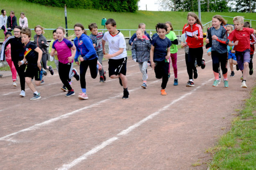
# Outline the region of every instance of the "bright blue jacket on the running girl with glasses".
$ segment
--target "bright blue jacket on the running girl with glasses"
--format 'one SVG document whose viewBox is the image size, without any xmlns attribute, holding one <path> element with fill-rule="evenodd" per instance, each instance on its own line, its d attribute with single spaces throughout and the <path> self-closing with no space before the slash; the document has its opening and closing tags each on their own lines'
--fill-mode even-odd
<svg viewBox="0 0 256 170">
<path fill-rule="evenodd" d="M 98 58 L 93 47 L 93 41 L 88 35 L 82 34 L 79 39 L 76 37 L 74 44 L 77 48 L 77 52 L 75 53 L 75 62 L 78 62 L 79 55 L 81 55 L 84 60 L 93 60 Z"/>
</svg>

